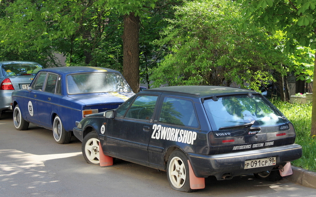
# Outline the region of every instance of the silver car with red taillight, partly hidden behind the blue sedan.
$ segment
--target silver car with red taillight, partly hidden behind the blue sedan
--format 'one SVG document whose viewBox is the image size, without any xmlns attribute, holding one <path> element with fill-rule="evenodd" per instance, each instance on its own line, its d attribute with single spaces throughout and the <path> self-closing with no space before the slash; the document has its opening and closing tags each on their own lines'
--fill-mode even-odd
<svg viewBox="0 0 316 197">
<path fill-rule="evenodd" d="M 0 61 L 0 119 L 11 106 L 11 94 L 27 89 L 34 75 L 43 67 L 32 61 Z"/>
</svg>

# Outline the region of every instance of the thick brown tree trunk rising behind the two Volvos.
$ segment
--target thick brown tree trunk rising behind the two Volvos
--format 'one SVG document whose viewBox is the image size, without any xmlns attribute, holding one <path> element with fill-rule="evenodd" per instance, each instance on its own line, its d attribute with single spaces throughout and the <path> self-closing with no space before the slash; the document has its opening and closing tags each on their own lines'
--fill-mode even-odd
<svg viewBox="0 0 316 197">
<path fill-rule="evenodd" d="M 139 16 L 124 16 L 123 75 L 133 92 L 139 92 Z"/>
</svg>

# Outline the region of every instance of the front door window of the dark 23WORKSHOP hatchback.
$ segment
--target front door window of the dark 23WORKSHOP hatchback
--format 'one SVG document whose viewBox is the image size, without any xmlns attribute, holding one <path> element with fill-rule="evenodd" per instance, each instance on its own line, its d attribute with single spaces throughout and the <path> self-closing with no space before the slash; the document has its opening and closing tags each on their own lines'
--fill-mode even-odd
<svg viewBox="0 0 316 197">
<path fill-rule="evenodd" d="M 157 98 L 158 96 L 137 96 L 127 111 L 125 118 L 149 120 L 153 116 Z"/>
</svg>

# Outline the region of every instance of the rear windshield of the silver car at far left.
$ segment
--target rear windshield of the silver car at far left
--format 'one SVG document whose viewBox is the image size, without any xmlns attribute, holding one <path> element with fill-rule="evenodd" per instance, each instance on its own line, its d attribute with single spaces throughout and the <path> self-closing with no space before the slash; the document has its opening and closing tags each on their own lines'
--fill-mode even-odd
<svg viewBox="0 0 316 197">
<path fill-rule="evenodd" d="M 3 76 L 21 76 L 21 75 L 35 75 L 42 67 L 39 64 L 8 64 L 2 65 Z"/>
</svg>

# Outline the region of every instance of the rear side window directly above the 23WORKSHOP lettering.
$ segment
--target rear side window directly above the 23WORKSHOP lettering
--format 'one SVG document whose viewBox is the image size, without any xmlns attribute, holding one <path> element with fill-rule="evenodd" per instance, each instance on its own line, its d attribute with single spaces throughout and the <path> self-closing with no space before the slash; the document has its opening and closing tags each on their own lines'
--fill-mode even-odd
<svg viewBox="0 0 316 197">
<path fill-rule="evenodd" d="M 165 97 L 161 106 L 159 122 L 197 127 L 197 116 L 192 101 Z"/>
</svg>

